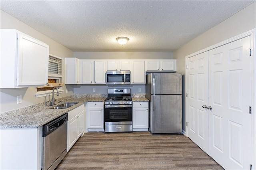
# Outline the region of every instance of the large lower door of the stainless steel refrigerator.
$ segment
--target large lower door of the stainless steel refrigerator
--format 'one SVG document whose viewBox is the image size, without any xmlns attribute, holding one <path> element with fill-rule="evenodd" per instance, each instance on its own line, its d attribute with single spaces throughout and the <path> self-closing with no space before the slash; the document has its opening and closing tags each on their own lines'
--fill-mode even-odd
<svg viewBox="0 0 256 170">
<path fill-rule="evenodd" d="M 182 95 L 151 95 L 150 132 L 182 132 Z"/>
</svg>

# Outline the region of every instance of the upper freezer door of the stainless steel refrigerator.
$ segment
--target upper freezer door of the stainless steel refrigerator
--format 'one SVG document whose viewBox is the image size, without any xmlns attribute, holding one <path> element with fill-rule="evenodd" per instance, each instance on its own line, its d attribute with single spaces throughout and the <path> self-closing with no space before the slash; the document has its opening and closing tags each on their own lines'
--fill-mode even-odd
<svg viewBox="0 0 256 170">
<path fill-rule="evenodd" d="M 150 78 L 152 95 L 182 94 L 181 73 L 152 73 Z"/>
</svg>

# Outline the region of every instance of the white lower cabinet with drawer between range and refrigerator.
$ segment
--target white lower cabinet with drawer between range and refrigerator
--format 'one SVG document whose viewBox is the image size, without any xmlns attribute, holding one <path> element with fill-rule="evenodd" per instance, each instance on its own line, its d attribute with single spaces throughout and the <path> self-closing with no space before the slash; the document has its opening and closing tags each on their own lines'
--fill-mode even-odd
<svg viewBox="0 0 256 170">
<path fill-rule="evenodd" d="M 148 102 L 132 103 L 132 131 L 148 131 Z"/>
</svg>

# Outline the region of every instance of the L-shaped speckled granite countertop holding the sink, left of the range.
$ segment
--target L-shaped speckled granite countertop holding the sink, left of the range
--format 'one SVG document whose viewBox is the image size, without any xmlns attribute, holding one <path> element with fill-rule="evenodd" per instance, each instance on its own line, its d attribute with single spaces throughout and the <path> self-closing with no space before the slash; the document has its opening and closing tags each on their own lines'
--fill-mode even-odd
<svg viewBox="0 0 256 170">
<path fill-rule="evenodd" d="M 49 109 L 56 105 L 51 107 L 28 109 L 27 111 L 25 111 L 25 113 L 7 119 L 2 119 L 0 121 L 0 128 L 38 128 L 52 121 L 53 119 L 56 119 L 57 117 L 68 113 L 76 107 L 84 105 L 85 102 L 103 102 L 105 99 L 106 97 L 72 97 L 63 102 L 56 102 L 56 105 L 65 102 L 78 102 L 78 104 L 71 106 L 67 109 Z M 12 112 L 12 114 L 15 114 L 15 111 Z"/>
</svg>

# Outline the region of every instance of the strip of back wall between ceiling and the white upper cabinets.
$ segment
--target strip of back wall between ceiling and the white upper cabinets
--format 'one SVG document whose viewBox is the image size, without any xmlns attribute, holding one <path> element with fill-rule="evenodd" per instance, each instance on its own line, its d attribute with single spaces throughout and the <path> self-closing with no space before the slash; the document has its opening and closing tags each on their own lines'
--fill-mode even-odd
<svg viewBox="0 0 256 170">
<path fill-rule="evenodd" d="M 172 52 L 74 52 L 79 59 L 172 59 Z"/>
</svg>

